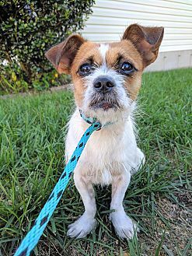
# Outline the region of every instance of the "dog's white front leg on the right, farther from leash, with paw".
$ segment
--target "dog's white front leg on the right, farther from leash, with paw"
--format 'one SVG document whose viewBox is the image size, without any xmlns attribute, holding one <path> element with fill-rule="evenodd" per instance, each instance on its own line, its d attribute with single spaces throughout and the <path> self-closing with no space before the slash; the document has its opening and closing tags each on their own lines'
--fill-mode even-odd
<svg viewBox="0 0 192 256">
<path fill-rule="evenodd" d="M 130 172 L 113 177 L 112 181 L 112 197 L 110 209 L 114 212 L 110 213 L 110 220 L 113 223 L 117 235 L 121 238 L 131 238 L 134 236 L 136 226 L 132 220 L 124 212 L 123 200 L 124 194 L 130 183 Z"/>
</svg>

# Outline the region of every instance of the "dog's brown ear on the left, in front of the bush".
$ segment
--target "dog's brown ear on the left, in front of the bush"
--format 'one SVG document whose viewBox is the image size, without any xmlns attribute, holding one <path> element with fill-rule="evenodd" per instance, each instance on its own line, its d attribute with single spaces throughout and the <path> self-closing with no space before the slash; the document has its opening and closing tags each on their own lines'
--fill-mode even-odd
<svg viewBox="0 0 192 256">
<path fill-rule="evenodd" d="M 45 57 L 51 61 L 54 68 L 59 73 L 69 74 L 72 66 L 72 61 L 79 50 L 79 47 L 85 42 L 85 40 L 78 34 L 68 37 L 61 44 L 57 44 L 51 47 L 46 52 Z"/>
</svg>

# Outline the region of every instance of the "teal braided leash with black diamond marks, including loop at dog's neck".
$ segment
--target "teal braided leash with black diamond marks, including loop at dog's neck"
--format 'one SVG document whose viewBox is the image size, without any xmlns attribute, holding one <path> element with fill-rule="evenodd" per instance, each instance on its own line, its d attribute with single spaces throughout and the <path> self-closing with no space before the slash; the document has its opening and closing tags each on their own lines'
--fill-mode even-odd
<svg viewBox="0 0 192 256">
<path fill-rule="evenodd" d="M 80 114 L 81 116 L 83 115 L 81 112 Z M 44 208 L 40 211 L 40 214 L 37 217 L 32 229 L 29 231 L 29 233 L 26 234 L 26 237 L 23 239 L 14 256 L 29 256 L 30 252 L 33 251 L 33 248 L 37 245 L 38 241 L 40 240 L 40 237 L 44 232 L 47 223 L 51 219 L 54 209 L 57 207 L 58 202 L 60 201 L 61 196 L 65 191 L 68 181 L 72 176 L 72 172 L 75 170 L 79 157 L 81 156 L 82 151 L 86 146 L 86 142 L 88 141 L 90 135 L 92 135 L 94 131 L 97 131 L 100 128 L 102 128 L 102 125 L 96 121 L 96 118 L 85 117 L 84 115 L 82 118 L 91 125 L 89 126 L 89 128 L 87 128 L 84 135 L 82 135 L 82 138 L 78 143 L 78 146 L 72 154 L 71 159 L 68 161 L 65 170 L 61 174 L 58 183 L 55 185 L 53 191 L 51 192 L 51 195 L 48 198 L 46 204 L 44 205 Z"/>
</svg>

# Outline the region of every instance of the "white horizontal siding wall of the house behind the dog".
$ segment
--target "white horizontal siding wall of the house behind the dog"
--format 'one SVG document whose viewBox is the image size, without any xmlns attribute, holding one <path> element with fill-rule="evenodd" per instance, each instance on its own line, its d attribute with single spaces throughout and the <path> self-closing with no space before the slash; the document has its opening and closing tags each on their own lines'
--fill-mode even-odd
<svg viewBox="0 0 192 256">
<path fill-rule="evenodd" d="M 189 63 L 184 66 L 192 65 L 192 0 L 96 0 L 93 15 L 86 22 L 82 35 L 96 42 L 117 41 L 131 23 L 164 26 L 165 36 L 160 47 L 162 58 L 169 57 L 171 51 L 181 51 L 182 54 L 188 50 Z M 169 68 L 172 66 L 180 67 L 170 65 Z"/>
</svg>

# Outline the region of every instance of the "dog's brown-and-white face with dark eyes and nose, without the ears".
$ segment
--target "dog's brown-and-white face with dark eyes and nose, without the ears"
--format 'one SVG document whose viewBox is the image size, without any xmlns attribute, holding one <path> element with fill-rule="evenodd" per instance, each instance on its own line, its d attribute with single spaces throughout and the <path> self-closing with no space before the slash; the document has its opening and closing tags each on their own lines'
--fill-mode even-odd
<svg viewBox="0 0 192 256">
<path fill-rule="evenodd" d="M 128 40 L 85 42 L 72 64 L 75 100 L 83 111 L 126 110 L 141 85 L 142 61 Z"/>
</svg>

